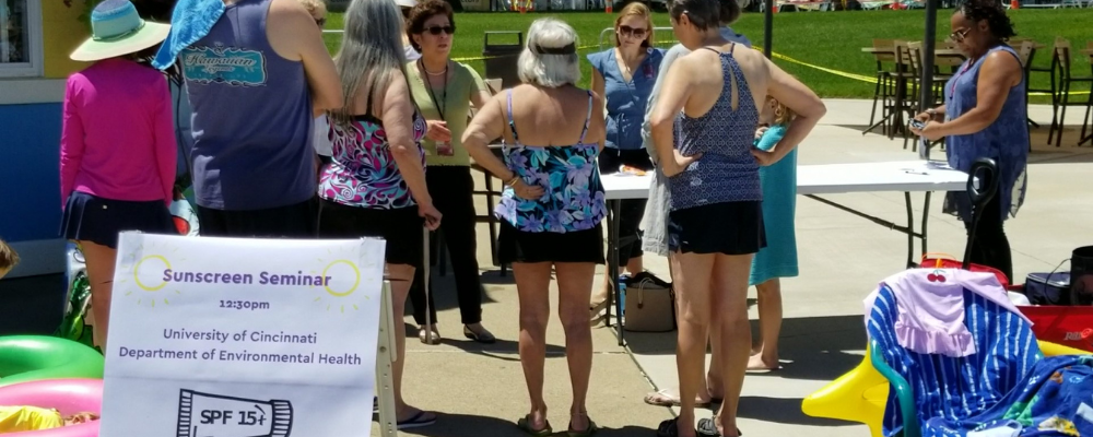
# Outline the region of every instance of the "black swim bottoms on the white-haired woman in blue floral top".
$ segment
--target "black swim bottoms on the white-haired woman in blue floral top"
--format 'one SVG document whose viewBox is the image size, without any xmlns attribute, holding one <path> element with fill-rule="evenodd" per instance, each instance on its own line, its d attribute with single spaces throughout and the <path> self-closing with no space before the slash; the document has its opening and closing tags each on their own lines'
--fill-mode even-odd
<svg viewBox="0 0 1093 437">
<path fill-rule="evenodd" d="M 501 221 L 497 236 L 497 258 L 501 262 L 591 262 L 603 263 L 603 227 L 565 234 L 529 233 Z"/>
</svg>

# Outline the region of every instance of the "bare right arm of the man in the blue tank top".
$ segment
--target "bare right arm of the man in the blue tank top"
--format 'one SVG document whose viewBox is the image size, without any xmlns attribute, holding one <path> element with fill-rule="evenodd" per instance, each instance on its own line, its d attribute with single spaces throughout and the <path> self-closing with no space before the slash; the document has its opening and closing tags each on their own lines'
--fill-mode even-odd
<svg viewBox="0 0 1093 437">
<path fill-rule="evenodd" d="M 286 59 L 299 59 L 312 90 L 314 116 L 339 109 L 345 104 L 334 61 L 322 42 L 322 29 L 295 0 L 270 5 L 268 37 L 273 49 Z"/>
</svg>

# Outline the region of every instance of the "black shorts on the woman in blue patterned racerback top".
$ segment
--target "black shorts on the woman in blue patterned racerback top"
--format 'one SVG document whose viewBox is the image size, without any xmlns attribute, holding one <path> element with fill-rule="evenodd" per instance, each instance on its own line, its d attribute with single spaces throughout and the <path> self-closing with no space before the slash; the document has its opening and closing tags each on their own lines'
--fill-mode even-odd
<svg viewBox="0 0 1093 437">
<path fill-rule="evenodd" d="M 763 203 L 721 202 L 668 213 L 668 249 L 683 253 L 755 253 L 766 247 Z"/>
</svg>

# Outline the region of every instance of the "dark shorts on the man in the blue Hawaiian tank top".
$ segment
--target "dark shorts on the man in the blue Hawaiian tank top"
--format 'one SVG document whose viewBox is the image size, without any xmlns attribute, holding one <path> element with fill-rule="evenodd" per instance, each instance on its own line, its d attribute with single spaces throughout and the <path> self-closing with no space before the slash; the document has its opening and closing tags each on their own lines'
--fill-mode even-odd
<svg viewBox="0 0 1093 437">
<path fill-rule="evenodd" d="M 265 210 L 225 211 L 198 205 L 200 234 L 207 237 L 315 238 L 318 198 Z"/>
</svg>

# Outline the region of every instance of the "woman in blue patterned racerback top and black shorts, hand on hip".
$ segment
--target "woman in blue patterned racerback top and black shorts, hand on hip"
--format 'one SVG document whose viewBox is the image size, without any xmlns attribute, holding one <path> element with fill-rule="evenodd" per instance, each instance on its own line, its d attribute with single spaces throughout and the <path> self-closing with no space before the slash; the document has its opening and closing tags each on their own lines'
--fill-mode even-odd
<svg viewBox="0 0 1093 437">
<path fill-rule="evenodd" d="M 668 71 L 650 126 L 668 176 L 668 247 L 678 296 L 675 364 L 680 415 L 658 436 L 740 436 L 737 409 L 751 352 L 748 280 L 752 257 L 766 246 L 760 166 L 786 156 L 826 113 L 808 86 L 762 52 L 726 40 L 716 0 L 673 0 L 672 31 L 690 54 Z M 772 150 L 752 146 L 766 96 L 798 114 Z M 706 330 L 721 346 L 725 400 L 695 427 Z"/>
</svg>

